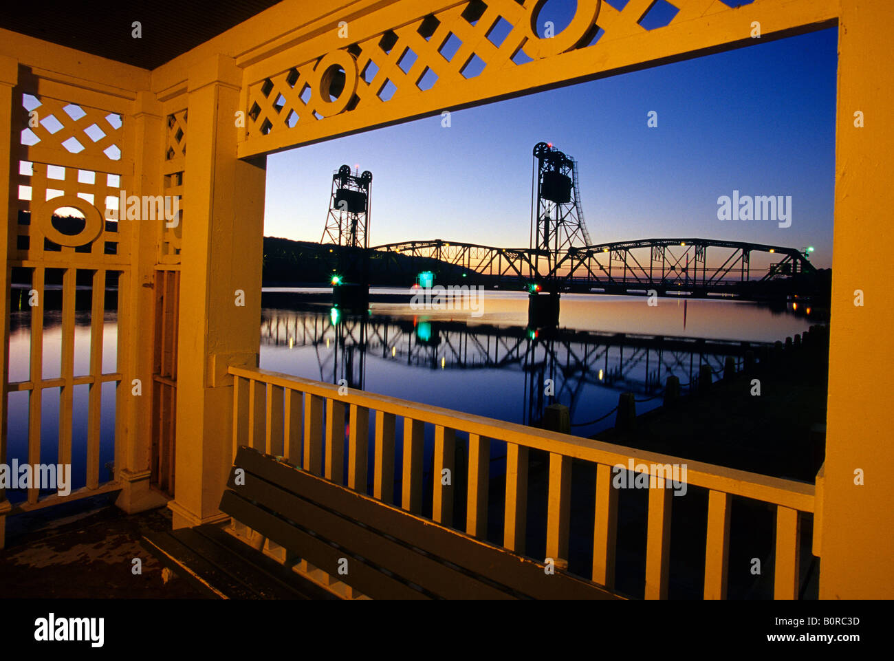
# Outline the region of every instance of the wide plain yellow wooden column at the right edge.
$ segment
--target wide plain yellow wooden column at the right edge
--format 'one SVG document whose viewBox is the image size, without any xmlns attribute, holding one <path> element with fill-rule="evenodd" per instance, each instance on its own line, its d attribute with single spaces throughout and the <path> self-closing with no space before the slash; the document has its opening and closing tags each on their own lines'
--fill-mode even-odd
<svg viewBox="0 0 894 661">
<path fill-rule="evenodd" d="M 820 597 L 894 597 L 887 0 L 841 0 L 829 414 Z M 862 482 L 862 484 L 860 484 Z"/>
</svg>

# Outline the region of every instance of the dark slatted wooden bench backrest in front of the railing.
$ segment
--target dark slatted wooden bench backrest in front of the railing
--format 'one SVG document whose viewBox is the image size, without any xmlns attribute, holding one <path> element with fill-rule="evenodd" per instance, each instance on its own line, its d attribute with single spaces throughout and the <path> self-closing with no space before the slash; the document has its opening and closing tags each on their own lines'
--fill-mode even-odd
<svg viewBox="0 0 894 661">
<path fill-rule="evenodd" d="M 367 597 L 621 598 L 244 446 L 220 509 Z"/>
</svg>

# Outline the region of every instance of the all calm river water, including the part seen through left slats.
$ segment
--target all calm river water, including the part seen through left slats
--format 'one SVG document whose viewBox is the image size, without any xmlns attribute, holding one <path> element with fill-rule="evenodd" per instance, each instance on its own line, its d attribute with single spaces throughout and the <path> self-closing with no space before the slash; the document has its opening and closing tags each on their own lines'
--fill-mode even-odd
<svg viewBox="0 0 894 661">
<path fill-rule="evenodd" d="M 294 292 L 295 290 L 290 290 Z M 405 290 L 373 290 L 404 293 Z M 321 300 L 323 297 L 321 297 Z M 550 338 L 528 331 L 527 294 L 485 292 L 483 314 L 464 310 L 414 310 L 407 303 L 371 304 L 367 315 L 333 314 L 328 303 L 300 309 L 265 308 L 262 312 L 260 366 L 300 377 L 338 383 L 421 403 L 519 422 L 536 421 L 549 403 L 571 410 L 572 433 L 589 436 L 614 422 L 595 424 L 618 403 L 620 392 L 637 394 L 637 411 L 661 403 L 666 377 L 686 384 L 699 360 L 715 373 L 722 349 L 710 354 L 658 350 L 633 344 L 605 343 L 605 335 L 628 333 L 702 337 L 736 342 L 773 342 L 802 333 L 809 318 L 740 301 L 659 299 L 649 307 L 643 297 L 565 294 L 560 327 Z M 75 326 L 75 375 L 89 371 L 89 312 Z M 574 331 L 587 331 L 575 333 Z M 44 378 L 60 375 L 61 315 L 47 310 L 44 321 Z M 117 329 L 114 312 L 103 325 L 103 371 L 114 372 Z M 30 314 L 10 318 L 10 380 L 29 379 Z M 554 395 L 544 394 L 552 379 Z M 40 461 L 56 461 L 59 388 L 44 390 Z M 658 396 L 655 394 L 658 393 Z M 72 429 L 72 488 L 86 484 L 86 437 L 89 386 L 75 386 Z M 151 396 L 144 392 L 143 396 Z M 28 457 L 28 393 L 9 395 L 7 462 Z M 650 399 L 651 398 L 651 399 Z M 114 455 L 115 384 L 102 386 L 100 481 L 109 477 L 105 462 Z M 427 444 L 426 444 L 427 445 Z M 427 461 L 427 460 L 426 460 Z M 18 500 L 10 491 L 9 497 Z"/>
</svg>

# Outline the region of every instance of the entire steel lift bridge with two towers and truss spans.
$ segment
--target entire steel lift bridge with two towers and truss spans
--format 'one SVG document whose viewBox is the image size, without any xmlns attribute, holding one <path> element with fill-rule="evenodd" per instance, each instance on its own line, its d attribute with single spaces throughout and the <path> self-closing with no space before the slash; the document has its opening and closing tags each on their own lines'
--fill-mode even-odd
<svg viewBox="0 0 894 661">
<path fill-rule="evenodd" d="M 814 279 L 809 275 L 816 269 L 808 258 L 810 249 L 697 237 L 594 243 L 586 230 L 575 159 L 546 142 L 536 144 L 533 157 L 527 248 L 432 239 L 375 246 L 371 249 L 378 253 L 375 257 L 389 274 L 399 274 L 408 283 L 419 271 L 433 270 L 434 259 L 440 284 L 527 289 L 532 312 L 546 318 L 557 314 L 561 292 L 725 295 L 746 300 L 812 292 Z M 333 184 L 333 204 L 336 192 Z M 364 219 L 366 239 L 367 216 Z M 334 224 L 327 225 L 324 242 L 350 250 L 351 233 L 336 234 L 330 226 Z M 755 253 L 766 256 L 763 266 L 752 267 Z"/>
</svg>

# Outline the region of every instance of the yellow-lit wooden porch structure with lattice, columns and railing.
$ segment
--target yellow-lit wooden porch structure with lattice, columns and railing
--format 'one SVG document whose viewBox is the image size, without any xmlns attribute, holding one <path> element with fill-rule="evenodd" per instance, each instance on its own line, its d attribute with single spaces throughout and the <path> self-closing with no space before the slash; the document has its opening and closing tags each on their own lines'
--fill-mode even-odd
<svg viewBox="0 0 894 661">
<path fill-rule="evenodd" d="M 263 513 L 239 521 L 232 515 L 240 511 L 231 506 L 235 496 L 222 503 L 225 492 L 239 488 L 236 483 L 228 487 L 228 476 L 238 473 L 232 471 L 234 462 L 254 462 L 252 470 L 282 473 L 277 488 L 307 489 L 298 495 L 289 492 L 291 496 L 266 493 L 263 499 L 270 507 L 310 517 L 312 508 L 297 506 L 301 498 L 311 497 L 310 489 L 330 513 L 344 502 L 355 508 L 352 513 L 372 516 L 381 505 L 388 521 L 409 517 L 416 521 L 412 530 L 430 535 L 408 544 L 466 566 L 458 555 L 477 553 L 469 540 L 484 539 L 487 531 L 493 441 L 505 445 L 507 456 L 503 536 L 499 553 L 492 554 L 502 559 L 493 562 L 494 572 L 525 555 L 529 454 L 548 456 L 545 557 L 528 558 L 526 563 L 538 565 L 525 566 L 552 567 L 563 578 L 538 595 L 561 597 L 549 589 L 568 584 L 611 596 L 618 507 L 611 467 L 636 460 L 658 469 L 685 463 L 687 483 L 709 492 L 704 597 L 727 594 L 734 498 L 774 509 L 776 597 L 798 596 L 803 546 L 822 559 L 820 597 L 894 596 L 889 553 L 894 547 L 894 496 L 882 473 L 884 466 L 894 464 L 887 419 L 894 371 L 880 370 L 878 360 L 890 355 L 894 325 L 880 272 L 888 259 L 888 246 L 881 240 L 890 216 L 884 193 L 894 169 L 888 148 L 894 127 L 884 119 L 890 114 L 890 90 L 879 84 L 890 59 L 890 4 L 759 0 L 735 9 L 726 0 L 672 4 L 679 9 L 672 20 L 646 30 L 640 21 L 653 0 L 630 0 L 620 11 L 608 2 L 580 0 L 568 27 L 552 38 L 540 38 L 532 27 L 541 3 L 515 0 L 285 0 L 243 4 L 238 15 L 207 3 L 206 11 L 165 15 L 159 19 L 165 24 L 154 33 L 146 25 L 140 31 L 139 21 L 122 28 L 97 13 L 94 31 L 80 34 L 71 29 L 72 13 L 83 12 L 78 4 L 55 8 L 37 26 L 4 19 L 9 21 L 0 25 L 0 179 L 9 182 L 0 190 L 7 226 L 0 240 L 6 265 L 0 271 L 6 292 L 0 299 L 4 347 L 9 346 L 13 273 L 27 274 L 34 296 L 29 376 L 11 381 L 8 349 L 0 352 L 0 464 L 10 456 L 11 395 L 27 394 L 27 459 L 34 464 L 40 462 L 41 423 L 47 410 L 55 410 L 48 406 L 50 398 L 59 400 L 60 463 L 71 463 L 75 390 L 87 389 L 89 410 L 86 486 L 65 496 L 30 488 L 24 501 L 14 503 L 0 490 L 0 546 L 9 517 L 115 492 L 116 504 L 128 513 L 166 504 L 177 530 L 217 526 L 246 539 L 248 550 L 254 546 L 281 560 L 301 555 L 304 538 L 274 525 Z M 488 35 L 501 19 L 511 30 L 498 45 Z M 266 155 L 434 117 L 445 108 L 836 26 L 835 321 L 825 462 L 815 483 L 654 453 L 634 457 L 622 445 L 258 369 Z M 597 29 L 603 33 L 595 41 Z M 207 40 L 199 36 L 209 34 Z M 446 57 L 442 47 L 449 39 L 460 45 Z M 519 58 L 521 50 L 527 59 Z M 405 58 L 410 52 L 415 59 Z M 468 64 L 476 57 L 484 67 L 472 75 Z M 63 233 L 54 225 L 60 208 L 83 216 L 79 232 Z M 61 278 L 63 301 L 55 348 L 60 371 L 45 377 L 49 357 L 41 305 L 56 277 Z M 74 300 L 85 279 L 94 292 L 91 342 L 89 369 L 78 374 Z M 114 343 L 103 342 L 105 296 L 97 292 L 107 288 L 116 292 Z M 115 360 L 107 360 L 113 355 Z M 100 461 L 102 394 L 108 388 L 116 394 L 111 479 L 105 479 Z M 349 423 L 344 434 L 343 421 Z M 403 442 L 400 489 L 395 491 L 398 425 Z M 432 509 L 424 516 L 426 426 L 434 428 L 435 470 L 447 470 L 457 479 L 434 481 Z M 468 447 L 461 464 L 454 462 L 458 438 Z M 375 447 L 367 455 L 368 443 Z M 257 453 L 240 451 L 242 447 L 278 459 L 258 459 Z M 367 456 L 374 476 L 368 484 Z M 567 567 L 576 565 L 568 557 L 568 527 L 575 460 L 595 466 L 597 482 L 592 563 L 586 575 L 572 577 Z M 274 461 L 276 465 L 264 463 Z M 294 470 L 300 472 L 290 472 Z M 660 472 L 651 477 L 663 486 Z M 462 489 L 466 504 L 461 517 L 453 516 L 455 489 Z M 673 506 L 670 489 L 651 490 L 645 521 L 646 598 L 668 596 Z M 425 525 L 419 521 L 424 518 Z M 810 519 L 813 538 L 805 539 L 802 524 Z M 314 529 L 308 521 L 294 522 Z M 318 523 L 341 525 L 331 517 Z M 434 539 L 440 541 L 433 547 Z M 351 557 L 375 556 L 359 533 L 339 540 Z M 340 580 L 339 566 L 308 560 L 316 557 L 324 563 L 329 556 L 308 550 L 304 557 L 296 567 L 333 594 L 375 597 L 380 577 L 370 573 L 373 569 L 350 574 L 368 578 L 352 585 Z M 469 555 L 463 562 L 484 566 L 479 560 Z M 506 576 L 500 579 L 510 583 L 505 594 L 535 594 L 534 588 L 525 591 L 527 578 L 516 584 Z M 483 578 L 486 582 L 493 576 Z M 591 589 L 594 584 L 598 589 Z M 538 583 L 537 589 L 541 587 Z M 438 596 L 443 589 L 433 582 L 422 588 L 425 596 Z"/>
</svg>

